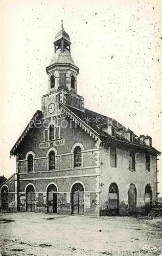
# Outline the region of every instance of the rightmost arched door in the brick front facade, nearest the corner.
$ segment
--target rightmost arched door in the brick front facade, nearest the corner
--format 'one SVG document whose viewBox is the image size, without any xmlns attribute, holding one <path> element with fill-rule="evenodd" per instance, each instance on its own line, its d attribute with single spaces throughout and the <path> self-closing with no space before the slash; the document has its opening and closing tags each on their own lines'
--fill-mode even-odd
<svg viewBox="0 0 162 256">
<path fill-rule="evenodd" d="M 84 187 L 81 183 L 72 187 L 72 214 L 84 215 Z"/>
</svg>

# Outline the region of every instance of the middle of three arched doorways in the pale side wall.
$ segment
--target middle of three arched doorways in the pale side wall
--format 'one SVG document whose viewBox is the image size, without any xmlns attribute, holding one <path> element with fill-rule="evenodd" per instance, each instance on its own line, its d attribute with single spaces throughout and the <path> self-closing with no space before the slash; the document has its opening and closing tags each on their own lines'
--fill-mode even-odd
<svg viewBox="0 0 162 256">
<path fill-rule="evenodd" d="M 129 186 L 128 208 L 129 208 L 129 214 L 136 213 L 136 187 L 134 184 L 130 184 L 130 186 Z"/>
</svg>

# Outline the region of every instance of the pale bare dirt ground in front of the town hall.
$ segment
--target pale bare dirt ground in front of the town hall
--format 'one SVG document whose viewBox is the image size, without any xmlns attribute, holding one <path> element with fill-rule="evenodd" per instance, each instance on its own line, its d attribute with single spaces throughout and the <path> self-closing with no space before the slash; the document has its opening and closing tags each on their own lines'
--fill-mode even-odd
<svg viewBox="0 0 162 256">
<path fill-rule="evenodd" d="M 0 219 L 3 256 L 162 256 L 162 229 L 146 220 L 34 212 L 0 214 Z"/>
</svg>

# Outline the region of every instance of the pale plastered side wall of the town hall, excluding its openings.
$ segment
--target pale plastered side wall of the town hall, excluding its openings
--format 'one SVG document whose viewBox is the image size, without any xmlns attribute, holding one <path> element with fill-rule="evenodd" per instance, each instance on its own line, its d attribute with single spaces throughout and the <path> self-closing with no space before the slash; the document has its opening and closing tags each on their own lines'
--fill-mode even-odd
<svg viewBox="0 0 162 256">
<path fill-rule="evenodd" d="M 150 184 L 152 190 L 152 204 L 157 201 L 157 159 L 155 155 L 150 157 L 150 172 L 146 170 L 145 153 L 135 153 L 135 171 L 129 169 L 128 148 L 117 148 L 117 167 L 110 166 L 110 147 L 101 147 L 101 214 L 107 214 L 109 186 L 116 183 L 119 188 L 119 214 L 128 215 L 128 190 L 130 184 L 136 187 L 136 207 L 137 212 L 145 212 L 145 188 Z"/>
</svg>

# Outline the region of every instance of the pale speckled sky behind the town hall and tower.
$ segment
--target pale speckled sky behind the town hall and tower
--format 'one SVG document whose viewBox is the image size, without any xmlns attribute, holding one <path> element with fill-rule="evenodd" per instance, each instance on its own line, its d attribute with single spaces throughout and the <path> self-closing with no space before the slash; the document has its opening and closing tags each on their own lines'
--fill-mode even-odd
<svg viewBox="0 0 162 256">
<path fill-rule="evenodd" d="M 85 107 L 136 135 L 151 136 L 162 151 L 160 5 L 153 0 L 1 1 L 1 175 L 16 172 L 9 152 L 41 110 L 41 96 L 48 91 L 45 67 L 61 19 L 80 68 L 78 94 Z M 158 169 L 161 182 L 160 158 Z M 159 189 L 162 193 L 162 185 Z"/>
</svg>

